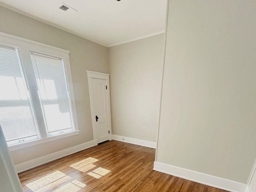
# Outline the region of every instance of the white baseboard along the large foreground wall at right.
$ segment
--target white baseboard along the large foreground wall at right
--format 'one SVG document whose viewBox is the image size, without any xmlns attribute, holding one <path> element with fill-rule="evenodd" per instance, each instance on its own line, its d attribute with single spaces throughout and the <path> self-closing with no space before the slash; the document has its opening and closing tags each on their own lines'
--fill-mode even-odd
<svg viewBox="0 0 256 192">
<path fill-rule="evenodd" d="M 215 188 L 223 189 L 230 192 L 245 192 L 247 185 L 244 183 L 227 180 L 224 178 L 207 175 L 204 173 L 160 163 L 154 162 L 153 170 L 163 172 L 169 175 L 184 178 L 190 181 L 198 182 Z"/>
</svg>

